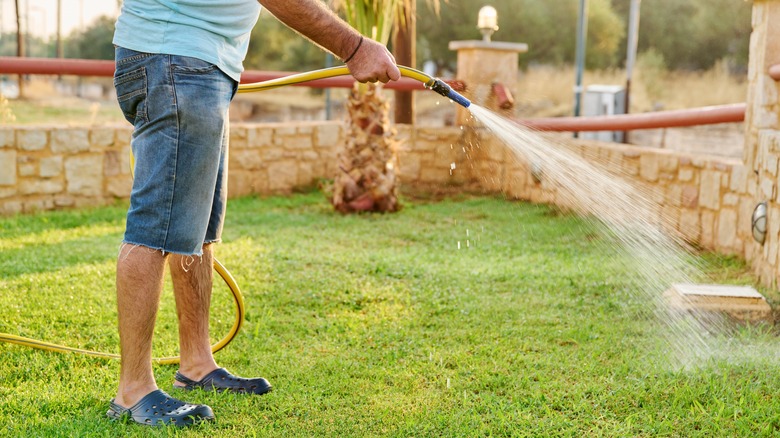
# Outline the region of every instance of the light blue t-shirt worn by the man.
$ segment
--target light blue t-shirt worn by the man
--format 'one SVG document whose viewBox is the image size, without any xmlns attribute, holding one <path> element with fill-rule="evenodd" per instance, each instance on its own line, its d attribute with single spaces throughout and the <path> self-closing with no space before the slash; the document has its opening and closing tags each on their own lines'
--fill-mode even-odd
<svg viewBox="0 0 780 438">
<path fill-rule="evenodd" d="M 114 44 L 198 58 L 238 81 L 259 14 L 257 0 L 125 0 Z"/>
</svg>

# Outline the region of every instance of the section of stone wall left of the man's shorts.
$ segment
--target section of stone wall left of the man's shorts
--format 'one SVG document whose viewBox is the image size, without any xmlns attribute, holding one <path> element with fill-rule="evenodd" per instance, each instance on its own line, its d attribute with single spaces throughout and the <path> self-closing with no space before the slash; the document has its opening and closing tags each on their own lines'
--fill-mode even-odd
<svg viewBox="0 0 780 438">
<path fill-rule="evenodd" d="M 0 214 L 127 197 L 129 140 L 121 127 L 0 127 Z"/>
</svg>

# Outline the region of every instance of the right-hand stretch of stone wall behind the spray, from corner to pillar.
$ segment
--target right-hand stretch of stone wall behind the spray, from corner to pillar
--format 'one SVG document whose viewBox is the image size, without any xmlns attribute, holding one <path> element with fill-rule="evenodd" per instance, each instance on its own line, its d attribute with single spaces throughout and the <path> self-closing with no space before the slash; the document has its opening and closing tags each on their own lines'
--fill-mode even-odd
<svg viewBox="0 0 780 438">
<path fill-rule="evenodd" d="M 477 136 L 475 157 L 486 190 L 569 207 L 555 184 L 543 175 L 535 176 L 511 150 L 484 133 Z M 755 201 L 742 160 L 587 140 L 554 138 L 550 144 L 567 148 L 600 171 L 649 194 L 648 205 L 642 207 L 686 241 L 740 257 L 753 250 L 750 226 Z"/>
</svg>

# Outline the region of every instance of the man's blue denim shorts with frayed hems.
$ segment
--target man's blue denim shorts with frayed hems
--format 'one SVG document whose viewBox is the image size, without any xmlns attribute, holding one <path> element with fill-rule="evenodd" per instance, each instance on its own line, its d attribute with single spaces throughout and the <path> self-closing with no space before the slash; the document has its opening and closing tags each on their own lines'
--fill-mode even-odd
<svg viewBox="0 0 780 438">
<path fill-rule="evenodd" d="M 124 242 L 201 255 L 222 234 L 228 108 L 238 84 L 196 58 L 117 47 L 114 87 L 134 127 Z"/>
</svg>

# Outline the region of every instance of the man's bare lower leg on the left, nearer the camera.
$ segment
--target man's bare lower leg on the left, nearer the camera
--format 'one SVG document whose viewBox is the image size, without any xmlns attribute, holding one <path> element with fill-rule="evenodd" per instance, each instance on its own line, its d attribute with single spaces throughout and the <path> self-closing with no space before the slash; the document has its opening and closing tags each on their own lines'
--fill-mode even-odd
<svg viewBox="0 0 780 438">
<path fill-rule="evenodd" d="M 114 403 L 131 407 L 157 389 L 152 335 L 160 304 L 165 258 L 161 251 L 124 244 L 116 273 L 121 369 Z"/>
</svg>

